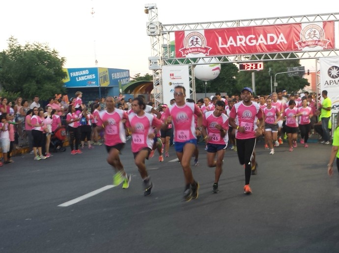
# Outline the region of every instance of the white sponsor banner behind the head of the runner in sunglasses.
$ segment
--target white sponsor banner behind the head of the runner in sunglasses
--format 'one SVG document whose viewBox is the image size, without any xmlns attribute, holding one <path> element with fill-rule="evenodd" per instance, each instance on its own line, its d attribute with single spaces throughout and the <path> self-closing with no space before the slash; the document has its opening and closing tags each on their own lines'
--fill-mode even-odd
<svg viewBox="0 0 339 253">
<path fill-rule="evenodd" d="M 189 66 L 163 66 L 163 102 L 169 105 L 169 101 L 174 98 L 174 87 L 184 86 L 186 89 L 186 99 L 190 98 L 190 76 Z"/>
</svg>

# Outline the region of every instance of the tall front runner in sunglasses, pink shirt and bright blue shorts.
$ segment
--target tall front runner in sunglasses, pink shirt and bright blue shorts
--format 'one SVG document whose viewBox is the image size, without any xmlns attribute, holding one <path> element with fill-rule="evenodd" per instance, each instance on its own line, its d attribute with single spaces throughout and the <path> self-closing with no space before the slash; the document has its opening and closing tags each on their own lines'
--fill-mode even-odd
<svg viewBox="0 0 339 253">
<path fill-rule="evenodd" d="M 162 129 L 169 124 L 173 126 L 175 151 L 181 163 L 185 177 L 184 201 L 198 198 L 199 183 L 194 180 L 191 170 L 191 158 L 197 146 L 197 133 L 194 115 L 198 116 L 198 126 L 201 127 L 202 113 L 195 103 L 186 102 L 186 89 L 183 86 L 174 87 L 175 104 L 166 110 L 166 121 Z"/>
</svg>

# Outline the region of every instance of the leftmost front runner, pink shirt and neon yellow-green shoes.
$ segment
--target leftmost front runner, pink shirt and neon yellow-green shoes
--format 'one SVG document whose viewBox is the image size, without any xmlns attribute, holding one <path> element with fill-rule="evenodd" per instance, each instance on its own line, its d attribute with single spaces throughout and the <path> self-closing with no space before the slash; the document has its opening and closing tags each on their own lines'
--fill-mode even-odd
<svg viewBox="0 0 339 253">
<path fill-rule="evenodd" d="M 119 185 L 123 182 L 122 188 L 129 187 L 131 175 L 128 175 L 120 161 L 119 153 L 126 143 L 126 131 L 124 123 L 128 120 L 125 111 L 115 108 L 113 97 L 106 98 L 106 110 L 102 110 L 97 118 L 97 131 L 104 129 L 105 145 L 108 152 L 107 162 L 115 170 L 113 184 Z"/>
</svg>

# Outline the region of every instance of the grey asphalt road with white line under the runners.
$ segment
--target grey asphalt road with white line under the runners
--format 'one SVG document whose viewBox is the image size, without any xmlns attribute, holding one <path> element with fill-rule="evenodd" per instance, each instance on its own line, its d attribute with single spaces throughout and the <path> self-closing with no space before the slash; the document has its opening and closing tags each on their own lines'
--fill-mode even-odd
<svg viewBox="0 0 339 253">
<path fill-rule="evenodd" d="M 311 143 L 274 155 L 257 143 L 258 174 L 243 194 L 244 169 L 227 150 L 220 192 L 204 145 L 197 200 L 182 202 L 180 164 L 146 162 L 154 189 L 143 196 L 130 143 L 122 152 L 132 174 L 128 189 L 113 187 L 104 146 L 46 160 L 25 154 L 0 167 L 1 253 L 322 253 L 339 252 L 339 176 L 327 176 L 331 146 Z"/>
</svg>

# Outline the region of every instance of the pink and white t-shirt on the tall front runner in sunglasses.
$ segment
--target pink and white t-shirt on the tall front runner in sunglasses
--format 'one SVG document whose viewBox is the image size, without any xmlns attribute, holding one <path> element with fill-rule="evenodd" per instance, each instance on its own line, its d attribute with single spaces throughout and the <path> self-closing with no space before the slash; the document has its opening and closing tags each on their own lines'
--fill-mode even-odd
<svg viewBox="0 0 339 253">
<path fill-rule="evenodd" d="M 197 139 L 194 114 L 201 115 L 201 111 L 198 105 L 192 102 L 186 102 L 182 106 L 172 104 L 166 110 L 165 118 L 172 116 L 174 142 Z"/>
</svg>

